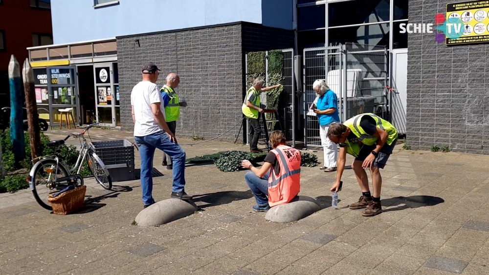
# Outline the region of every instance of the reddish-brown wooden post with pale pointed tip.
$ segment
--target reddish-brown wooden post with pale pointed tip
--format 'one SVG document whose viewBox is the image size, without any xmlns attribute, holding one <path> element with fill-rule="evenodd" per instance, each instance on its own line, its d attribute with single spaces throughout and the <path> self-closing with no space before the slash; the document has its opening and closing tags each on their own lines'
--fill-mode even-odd
<svg viewBox="0 0 489 275">
<path fill-rule="evenodd" d="M 27 58 L 22 66 L 22 77 L 24 80 L 25 107 L 27 108 L 27 125 L 29 126 L 31 157 L 32 159 L 35 159 L 40 156 L 41 127 L 39 126 L 39 114 L 37 112 L 34 72 L 32 71 L 29 59 Z"/>
</svg>

